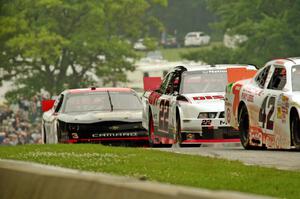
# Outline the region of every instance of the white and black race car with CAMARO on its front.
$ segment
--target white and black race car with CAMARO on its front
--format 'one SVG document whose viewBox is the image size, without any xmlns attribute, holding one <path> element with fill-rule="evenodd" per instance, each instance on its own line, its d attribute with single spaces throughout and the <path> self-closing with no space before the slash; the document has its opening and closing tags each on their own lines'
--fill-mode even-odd
<svg viewBox="0 0 300 199">
<path fill-rule="evenodd" d="M 42 119 L 44 143 L 148 142 L 142 105 L 129 88 L 62 92 Z"/>
</svg>

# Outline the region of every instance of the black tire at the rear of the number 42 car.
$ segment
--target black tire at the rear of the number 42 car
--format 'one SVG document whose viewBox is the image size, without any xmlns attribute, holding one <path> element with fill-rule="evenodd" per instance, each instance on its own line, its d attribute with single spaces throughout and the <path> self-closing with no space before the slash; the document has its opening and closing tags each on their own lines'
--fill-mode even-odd
<svg viewBox="0 0 300 199">
<path fill-rule="evenodd" d="M 251 149 L 250 138 L 249 138 L 249 114 L 247 107 L 242 105 L 239 111 L 239 131 L 241 144 L 245 149 Z"/>
</svg>

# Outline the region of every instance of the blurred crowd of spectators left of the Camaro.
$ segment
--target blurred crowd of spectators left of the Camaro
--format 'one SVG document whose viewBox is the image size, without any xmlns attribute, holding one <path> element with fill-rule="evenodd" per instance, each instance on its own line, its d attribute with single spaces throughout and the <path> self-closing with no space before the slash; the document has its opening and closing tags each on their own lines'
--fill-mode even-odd
<svg viewBox="0 0 300 199">
<path fill-rule="evenodd" d="M 0 145 L 41 144 L 41 99 L 0 105 Z"/>
</svg>

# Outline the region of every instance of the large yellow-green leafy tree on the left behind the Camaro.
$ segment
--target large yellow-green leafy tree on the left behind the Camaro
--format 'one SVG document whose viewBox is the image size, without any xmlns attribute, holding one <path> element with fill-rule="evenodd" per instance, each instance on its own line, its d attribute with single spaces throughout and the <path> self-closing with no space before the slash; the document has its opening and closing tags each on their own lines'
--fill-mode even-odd
<svg viewBox="0 0 300 199">
<path fill-rule="evenodd" d="M 95 75 L 126 81 L 132 41 L 153 25 L 146 11 L 157 4 L 166 0 L 1 0 L 0 80 L 16 87 L 9 98 L 88 86 Z"/>
</svg>

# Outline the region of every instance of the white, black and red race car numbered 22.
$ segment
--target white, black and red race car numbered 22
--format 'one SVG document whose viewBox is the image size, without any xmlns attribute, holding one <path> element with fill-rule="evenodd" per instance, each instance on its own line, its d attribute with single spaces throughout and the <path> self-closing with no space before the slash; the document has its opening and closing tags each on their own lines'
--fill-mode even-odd
<svg viewBox="0 0 300 199">
<path fill-rule="evenodd" d="M 200 146 L 203 142 L 239 142 L 238 132 L 224 117 L 227 68 L 250 65 L 178 66 L 164 78 L 159 89 L 142 96 L 143 127 L 150 146 L 178 143 Z"/>
</svg>

